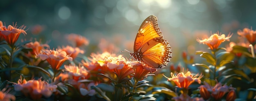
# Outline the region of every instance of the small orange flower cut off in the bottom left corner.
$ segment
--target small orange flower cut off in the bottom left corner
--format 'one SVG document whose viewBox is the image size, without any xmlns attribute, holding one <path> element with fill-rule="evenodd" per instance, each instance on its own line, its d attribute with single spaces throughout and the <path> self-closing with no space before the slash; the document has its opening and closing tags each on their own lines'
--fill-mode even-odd
<svg viewBox="0 0 256 101">
<path fill-rule="evenodd" d="M 16 97 L 8 93 L 10 89 L 8 89 L 7 91 L 6 89 L 7 88 L 4 88 L 0 91 L 0 101 L 15 101 Z"/>
</svg>

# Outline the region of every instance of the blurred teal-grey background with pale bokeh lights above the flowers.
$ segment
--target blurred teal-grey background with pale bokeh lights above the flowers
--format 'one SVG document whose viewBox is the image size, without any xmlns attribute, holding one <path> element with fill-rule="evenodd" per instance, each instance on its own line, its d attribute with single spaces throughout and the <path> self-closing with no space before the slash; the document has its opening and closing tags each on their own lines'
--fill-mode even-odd
<svg viewBox="0 0 256 101">
<path fill-rule="evenodd" d="M 129 56 L 120 51 L 133 52 L 139 26 L 155 15 L 172 47 L 171 61 L 176 62 L 182 51 L 194 54 L 207 49 L 197 38 L 219 31 L 234 33 L 231 41 L 237 41 L 237 30 L 255 30 L 255 4 L 255 0 L 1 0 L 0 20 L 6 26 L 24 24 L 27 35 L 20 39 L 41 40 L 51 49 L 68 45 L 65 34 L 75 33 L 89 39 L 87 56 L 100 52 L 101 42 L 113 44 L 113 53 Z"/>
</svg>

